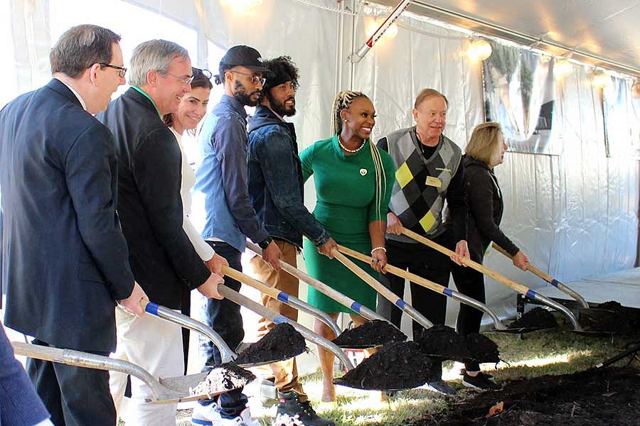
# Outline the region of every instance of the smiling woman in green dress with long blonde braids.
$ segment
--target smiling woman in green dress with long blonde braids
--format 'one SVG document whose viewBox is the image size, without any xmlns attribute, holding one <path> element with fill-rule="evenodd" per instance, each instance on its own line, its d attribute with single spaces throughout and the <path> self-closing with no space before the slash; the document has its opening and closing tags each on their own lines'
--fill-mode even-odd
<svg viewBox="0 0 640 426">
<path fill-rule="evenodd" d="M 316 219 L 338 244 L 371 253 L 373 261 L 370 264 L 356 263 L 377 278 L 387 263 L 386 217 L 395 167 L 388 153 L 370 143 L 375 109 L 365 94 L 338 93 L 332 120 L 334 136 L 317 141 L 300 154 L 302 175 L 305 181 L 314 175 Z M 308 240 L 304 241 L 304 258 L 311 276 L 375 310 L 375 290 L 338 261 L 322 256 Z M 339 312 L 347 312 L 355 324 L 366 321 L 314 288 L 309 288 L 308 301 L 334 319 Z M 319 320 L 314 323 L 314 331 L 327 339 L 335 337 Z M 318 354 L 323 373 L 322 400 L 335 400 L 334 355 L 320 346 Z"/>
</svg>

